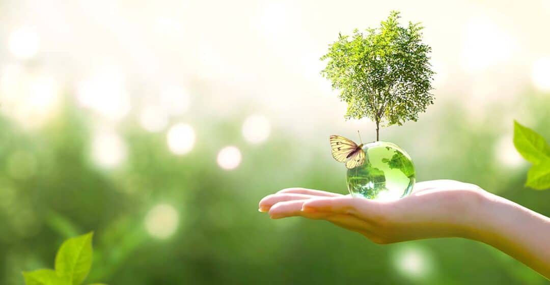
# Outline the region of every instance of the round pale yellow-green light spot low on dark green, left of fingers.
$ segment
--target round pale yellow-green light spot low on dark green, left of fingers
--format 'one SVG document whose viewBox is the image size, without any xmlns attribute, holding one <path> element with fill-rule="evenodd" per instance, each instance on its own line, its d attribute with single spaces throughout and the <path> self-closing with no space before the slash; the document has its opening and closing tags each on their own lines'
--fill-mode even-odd
<svg viewBox="0 0 550 285">
<path fill-rule="evenodd" d="M 145 229 L 155 238 L 171 237 L 178 228 L 179 214 L 172 205 L 158 204 L 145 217 Z"/>
</svg>

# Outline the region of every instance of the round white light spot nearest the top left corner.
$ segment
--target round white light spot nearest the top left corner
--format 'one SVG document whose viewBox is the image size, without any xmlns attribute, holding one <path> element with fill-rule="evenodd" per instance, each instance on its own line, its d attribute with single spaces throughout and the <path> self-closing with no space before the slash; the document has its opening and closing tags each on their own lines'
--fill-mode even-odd
<svg viewBox="0 0 550 285">
<path fill-rule="evenodd" d="M 30 59 L 38 53 L 40 38 L 30 27 L 20 27 L 9 35 L 9 51 L 19 59 Z"/>
</svg>

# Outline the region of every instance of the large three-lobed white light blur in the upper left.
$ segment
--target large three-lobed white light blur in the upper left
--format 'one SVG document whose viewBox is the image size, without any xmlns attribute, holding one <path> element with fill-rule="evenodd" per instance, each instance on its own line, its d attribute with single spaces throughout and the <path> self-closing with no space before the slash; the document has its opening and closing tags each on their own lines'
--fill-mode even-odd
<svg viewBox="0 0 550 285">
<path fill-rule="evenodd" d="M 120 120 L 130 111 L 124 73 L 114 65 L 103 65 L 94 70 L 79 82 L 76 94 L 80 105 L 97 111 L 107 119 Z"/>
</svg>

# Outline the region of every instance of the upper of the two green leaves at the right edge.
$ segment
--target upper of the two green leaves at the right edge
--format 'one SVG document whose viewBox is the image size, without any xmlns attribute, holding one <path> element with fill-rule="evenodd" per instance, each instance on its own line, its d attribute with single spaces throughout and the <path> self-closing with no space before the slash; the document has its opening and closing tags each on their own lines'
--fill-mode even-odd
<svg viewBox="0 0 550 285">
<path fill-rule="evenodd" d="M 550 146 L 544 138 L 517 121 L 514 121 L 514 146 L 522 157 L 533 164 L 550 160 Z"/>
</svg>

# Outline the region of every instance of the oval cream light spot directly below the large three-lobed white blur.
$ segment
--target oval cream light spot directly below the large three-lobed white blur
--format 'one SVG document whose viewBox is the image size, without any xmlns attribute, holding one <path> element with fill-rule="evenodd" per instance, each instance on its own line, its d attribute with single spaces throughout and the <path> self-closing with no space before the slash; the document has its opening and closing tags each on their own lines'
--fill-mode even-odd
<svg viewBox="0 0 550 285">
<path fill-rule="evenodd" d="M 122 163 L 127 156 L 127 147 L 122 137 L 113 130 L 101 130 L 92 141 L 92 158 L 97 165 L 111 168 Z"/>
</svg>

